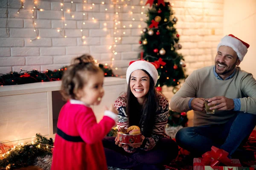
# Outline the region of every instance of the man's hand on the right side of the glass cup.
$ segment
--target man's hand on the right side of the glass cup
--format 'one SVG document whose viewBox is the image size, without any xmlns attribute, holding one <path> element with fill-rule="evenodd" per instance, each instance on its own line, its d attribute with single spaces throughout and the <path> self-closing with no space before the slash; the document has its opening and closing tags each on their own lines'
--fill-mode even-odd
<svg viewBox="0 0 256 170">
<path fill-rule="evenodd" d="M 235 108 L 233 99 L 224 96 L 212 97 L 208 101 L 209 106 L 216 104 L 216 106 L 211 107 L 210 110 L 217 109 L 218 111 L 230 111 Z"/>
</svg>

